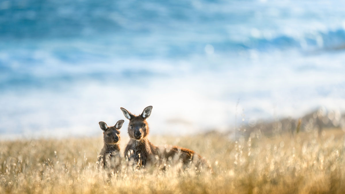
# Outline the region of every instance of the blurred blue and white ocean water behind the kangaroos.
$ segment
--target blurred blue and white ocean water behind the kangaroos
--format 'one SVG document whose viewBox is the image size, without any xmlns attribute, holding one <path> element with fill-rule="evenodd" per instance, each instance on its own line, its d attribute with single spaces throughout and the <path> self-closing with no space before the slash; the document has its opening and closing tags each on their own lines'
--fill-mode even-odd
<svg viewBox="0 0 345 194">
<path fill-rule="evenodd" d="M 338 0 L 1 0 L 0 135 L 99 136 L 149 105 L 153 134 L 342 112 L 344 49 Z"/>
</svg>

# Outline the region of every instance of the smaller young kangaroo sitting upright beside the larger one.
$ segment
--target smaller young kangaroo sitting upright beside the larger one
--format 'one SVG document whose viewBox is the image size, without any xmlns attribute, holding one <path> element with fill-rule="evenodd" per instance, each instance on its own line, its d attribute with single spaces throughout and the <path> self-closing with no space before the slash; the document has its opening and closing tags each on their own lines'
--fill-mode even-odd
<svg viewBox="0 0 345 194">
<path fill-rule="evenodd" d="M 120 131 L 119 129 L 124 124 L 124 120 L 119 120 L 114 126 L 108 127 L 105 122 L 99 122 L 100 128 L 103 130 L 104 146 L 101 149 L 98 157 L 98 164 L 103 167 L 111 167 L 120 162 Z M 114 163 L 115 160 L 115 163 Z"/>
</svg>

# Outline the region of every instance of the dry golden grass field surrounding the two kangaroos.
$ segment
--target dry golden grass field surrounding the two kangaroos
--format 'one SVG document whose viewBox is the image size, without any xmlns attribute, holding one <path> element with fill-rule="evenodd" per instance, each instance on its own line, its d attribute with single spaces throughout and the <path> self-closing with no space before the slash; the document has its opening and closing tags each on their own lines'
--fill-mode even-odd
<svg viewBox="0 0 345 194">
<path fill-rule="evenodd" d="M 1 141 L 0 193 L 344 193 L 343 135 L 335 129 L 271 138 L 253 133 L 238 142 L 219 133 L 152 136 L 156 145 L 194 149 L 214 173 L 124 166 L 110 176 L 95 165 L 101 138 Z M 122 137 L 122 150 L 127 140 Z"/>
</svg>

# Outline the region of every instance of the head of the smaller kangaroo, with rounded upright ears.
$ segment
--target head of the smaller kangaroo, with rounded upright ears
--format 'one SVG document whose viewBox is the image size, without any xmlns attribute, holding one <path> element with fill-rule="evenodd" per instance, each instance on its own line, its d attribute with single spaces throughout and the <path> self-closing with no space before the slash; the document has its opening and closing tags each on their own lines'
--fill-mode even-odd
<svg viewBox="0 0 345 194">
<path fill-rule="evenodd" d="M 101 121 L 99 126 L 103 130 L 103 138 L 105 144 L 118 144 L 120 142 L 120 128 L 124 124 L 124 120 L 119 120 L 114 126 L 108 127 L 108 125 Z"/>
</svg>

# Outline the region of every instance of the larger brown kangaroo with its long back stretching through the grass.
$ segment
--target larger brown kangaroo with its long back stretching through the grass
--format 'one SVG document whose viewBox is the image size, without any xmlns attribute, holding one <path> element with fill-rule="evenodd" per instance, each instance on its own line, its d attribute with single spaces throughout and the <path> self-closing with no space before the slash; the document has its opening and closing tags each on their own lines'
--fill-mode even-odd
<svg viewBox="0 0 345 194">
<path fill-rule="evenodd" d="M 193 150 L 182 148 L 178 146 L 165 146 L 158 147 L 152 144 L 147 135 L 149 134 L 149 127 L 146 119 L 150 116 L 152 106 L 148 106 L 139 116 L 131 114 L 128 110 L 121 107 L 125 117 L 129 119 L 128 135 L 130 140 L 125 149 L 125 157 L 128 160 L 133 160 L 138 166 L 147 166 L 157 163 L 157 159 L 162 161 L 171 160 L 172 158 L 178 159 L 183 162 L 184 168 L 187 168 L 189 164 L 194 163 L 196 169 L 201 169 L 203 166 L 212 169 L 207 164 L 206 160 Z"/>
</svg>

